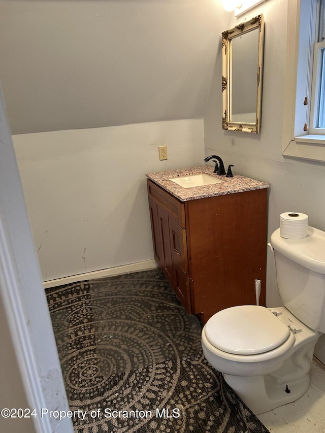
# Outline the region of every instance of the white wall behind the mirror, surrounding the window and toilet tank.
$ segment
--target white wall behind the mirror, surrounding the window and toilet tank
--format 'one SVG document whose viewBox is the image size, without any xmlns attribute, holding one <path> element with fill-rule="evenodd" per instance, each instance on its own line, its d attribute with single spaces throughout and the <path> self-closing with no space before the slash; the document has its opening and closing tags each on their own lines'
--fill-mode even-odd
<svg viewBox="0 0 325 433">
<path fill-rule="evenodd" d="M 231 27 L 246 17 L 259 13 L 265 19 L 264 77 L 262 101 L 262 128 L 258 135 L 221 129 L 221 55 L 215 65 L 205 125 L 205 154 L 216 153 L 226 164 L 235 164 L 234 173 L 268 182 L 269 214 L 268 242 L 279 227 L 282 212 L 303 212 L 309 216 L 309 225 L 325 230 L 325 167 L 322 163 L 283 157 L 282 118 L 283 81 L 286 52 L 287 2 L 269 0 L 246 15 L 232 18 Z M 267 304 L 279 306 L 273 253 L 268 250 Z M 325 361 L 323 343 L 317 353 Z"/>
</svg>

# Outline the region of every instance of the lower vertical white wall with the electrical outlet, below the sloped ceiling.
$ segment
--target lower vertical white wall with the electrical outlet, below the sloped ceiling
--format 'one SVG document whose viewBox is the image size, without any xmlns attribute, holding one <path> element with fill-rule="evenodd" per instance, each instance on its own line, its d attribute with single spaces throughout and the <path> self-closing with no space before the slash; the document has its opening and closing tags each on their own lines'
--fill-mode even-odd
<svg viewBox="0 0 325 433">
<path fill-rule="evenodd" d="M 203 119 L 13 142 L 45 281 L 152 259 L 145 173 L 204 164 Z M 168 160 L 159 160 L 159 145 Z"/>
</svg>

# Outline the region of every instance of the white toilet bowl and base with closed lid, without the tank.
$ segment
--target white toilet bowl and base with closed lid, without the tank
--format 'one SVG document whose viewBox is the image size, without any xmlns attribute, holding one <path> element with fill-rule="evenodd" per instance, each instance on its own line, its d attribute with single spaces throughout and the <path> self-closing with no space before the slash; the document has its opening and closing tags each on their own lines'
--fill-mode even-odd
<svg viewBox="0 0 325 433">
<path fill-rule="evenodd" d="M 203 328 L 203 353 L 252 412 L 270 411 L 306 392 L 320 332 L 284 307 L 243 305 L 220 313 Z"/>
</svg>

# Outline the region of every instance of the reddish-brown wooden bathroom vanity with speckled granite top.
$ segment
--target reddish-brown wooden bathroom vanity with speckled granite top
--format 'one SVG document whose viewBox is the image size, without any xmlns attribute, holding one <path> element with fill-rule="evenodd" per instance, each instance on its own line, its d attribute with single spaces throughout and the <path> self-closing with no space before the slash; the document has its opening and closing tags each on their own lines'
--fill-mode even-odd
<svg viewBox="0 0 325 433">
<path fill-rule="evenodd" d="M 222 182 L 175 183 L 194 174 Z M 187 312 L 206 323 L 224 308 L 256 304 L 255 279 L 265 305 L 269 185 L 217 176 L 210 165 L 146 176 L 154 258 Z"/>
</svg>

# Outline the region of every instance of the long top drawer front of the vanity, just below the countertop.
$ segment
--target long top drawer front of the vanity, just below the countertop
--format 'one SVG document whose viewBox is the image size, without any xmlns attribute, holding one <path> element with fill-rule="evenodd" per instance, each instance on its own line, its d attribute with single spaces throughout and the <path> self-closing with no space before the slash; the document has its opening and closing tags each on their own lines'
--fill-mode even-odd
<svg viewBox="0 0 325 433">
<path fill-rule="evenodd" d="M 162 208 L 182 228 L 185 228 L 185 207 L 176 197 L 147 179 L 149 198 Z"/>
</svg>

